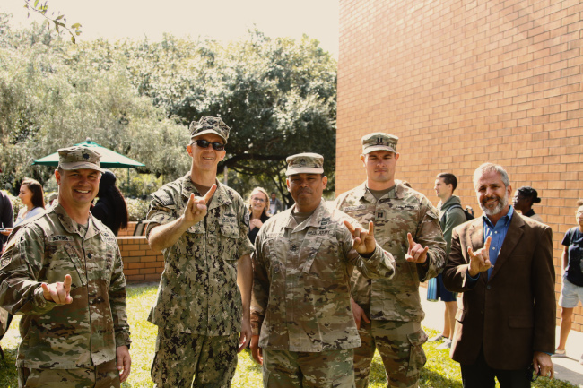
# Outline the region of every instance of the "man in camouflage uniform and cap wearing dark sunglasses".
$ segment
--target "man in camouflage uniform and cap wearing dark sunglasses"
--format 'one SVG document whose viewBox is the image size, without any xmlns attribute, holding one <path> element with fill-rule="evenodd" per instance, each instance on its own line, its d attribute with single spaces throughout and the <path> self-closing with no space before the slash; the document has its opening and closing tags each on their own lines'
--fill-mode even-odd
<svg viewBox="0 0 583 388">
<path fill-rule="evenodd" d="M 251 339 L 249 216 L 216 179 L 230 128 L 209 116 L 190 128 L 190 172 L 152 194 L 148 211 L 146 236 L 165 259 L 148 317 L 158 326 L 152 380 L 189 387 L 195 376 L 196 387 L 228 387 Z"/>
</svg>

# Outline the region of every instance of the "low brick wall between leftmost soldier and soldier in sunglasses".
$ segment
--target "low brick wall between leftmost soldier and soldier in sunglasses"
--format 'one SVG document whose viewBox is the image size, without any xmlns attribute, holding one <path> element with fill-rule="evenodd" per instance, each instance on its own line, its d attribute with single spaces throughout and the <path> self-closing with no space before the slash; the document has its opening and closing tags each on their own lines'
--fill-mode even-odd
<svg viewBox="0 0 583 388">
<path fill-rule="evenodd" d="M 126 282 L 159 281 L 164 270 L 164 256 L 148 246 L 144 236 L 117 237 L 124 262 Z"/>
</svg>

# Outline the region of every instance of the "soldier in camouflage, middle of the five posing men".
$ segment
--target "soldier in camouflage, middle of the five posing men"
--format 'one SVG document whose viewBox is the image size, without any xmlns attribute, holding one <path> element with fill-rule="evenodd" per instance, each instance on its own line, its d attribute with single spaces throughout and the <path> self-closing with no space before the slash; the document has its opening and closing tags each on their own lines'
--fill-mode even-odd
<svg viewBox="0 0 583 388">
<path fill-rule="evenodd" d="M 389 279 L 394 260 L 376 244 L 373 227 L 363 232 L 326 206 L 322 156 L 287 161 L 296 204 L 265 221 L 257 235 L 251 351 L 263 363 L 265 387 L 352 388 L 352 349 L 360 346 L 350 308 L 352 269 Z"/>
</svg>

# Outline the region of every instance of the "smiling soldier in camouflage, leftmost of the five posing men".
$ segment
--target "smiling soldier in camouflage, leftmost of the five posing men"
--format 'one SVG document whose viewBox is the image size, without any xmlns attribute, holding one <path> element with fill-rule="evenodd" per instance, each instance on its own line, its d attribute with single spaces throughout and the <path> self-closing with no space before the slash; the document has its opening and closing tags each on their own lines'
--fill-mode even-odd
<svg viewBox="0 0 583 388">
<path fill-rule="evenodd" d="M 58 154 L 58 203 L 14 228 L 1 260 L 0 306 L 23 315 L 19 386 L 119 387 L 131 365 L 126 280 L 116 237 L 90 213 L 100 155 Z"/>
</svg>

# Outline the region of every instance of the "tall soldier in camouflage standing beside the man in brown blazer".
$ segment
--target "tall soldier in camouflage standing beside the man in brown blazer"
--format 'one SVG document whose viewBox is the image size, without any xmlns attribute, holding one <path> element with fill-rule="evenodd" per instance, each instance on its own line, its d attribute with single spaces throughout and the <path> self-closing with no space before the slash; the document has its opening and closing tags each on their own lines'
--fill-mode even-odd
<svg viewBox="0 0 583 388">
<path fill-rule="evenodd" d="M 379 245 L 396 262 L 396 276 L 390 281 L 368 280 L 360 272 L 352 275 L 352 312 L 362 341 L 354 350 L 358 388 L 369 384 L 375 348 L 388 386 L 418 386 L 426 362 L 422 344 L 427 341 L 419 282 L 437 276 L 446 259 L 437 211 L 423 194 L 395 181 L 397 140 L 383 133 L 363 136 L 361 160 L 367 180 L 336 199 L 336 207 L 361 224 L 374 222 Z"/>
</svg>

